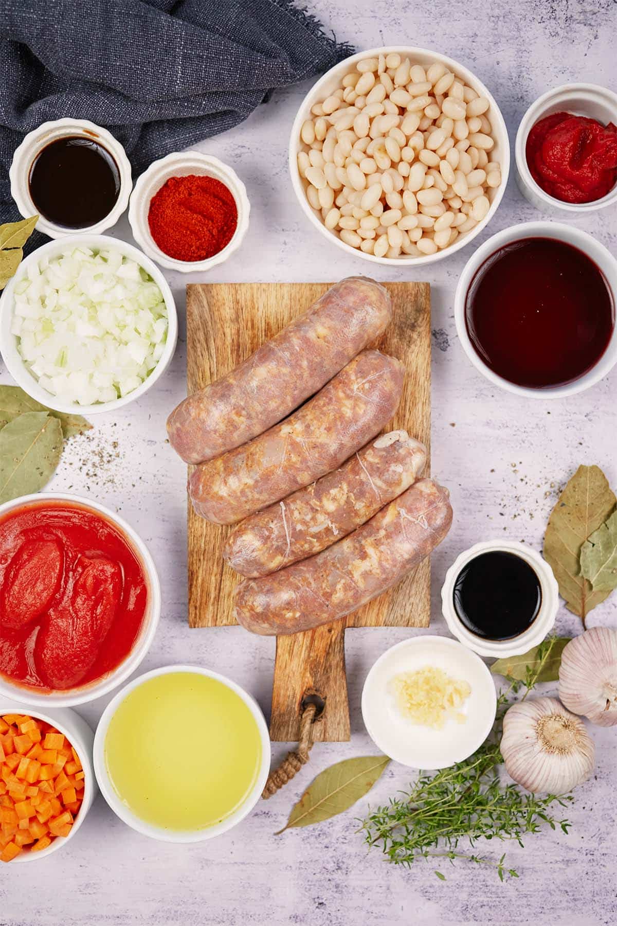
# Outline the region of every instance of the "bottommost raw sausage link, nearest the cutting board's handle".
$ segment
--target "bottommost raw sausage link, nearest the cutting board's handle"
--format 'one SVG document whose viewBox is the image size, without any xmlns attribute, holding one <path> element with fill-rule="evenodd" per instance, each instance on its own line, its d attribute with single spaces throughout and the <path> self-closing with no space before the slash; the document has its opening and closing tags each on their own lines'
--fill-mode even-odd
<svg viewBox="0 0 617 926">
<path fill-rule="evenodd" d="M 450 530 L 449 493 L 421 479 L 316 557 L 236 590 L 236 619 L 253 633 L 297 633 L 343 618 L 400 582 Z"/>
</svg>

